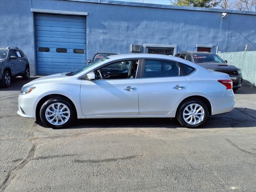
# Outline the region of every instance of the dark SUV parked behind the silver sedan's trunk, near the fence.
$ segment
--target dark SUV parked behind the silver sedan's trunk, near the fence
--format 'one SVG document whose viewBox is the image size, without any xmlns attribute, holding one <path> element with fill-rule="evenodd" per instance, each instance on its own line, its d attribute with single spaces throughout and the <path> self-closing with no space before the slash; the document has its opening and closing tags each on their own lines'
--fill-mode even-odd
<svg viewBox="0 0 256 192">
<path fill-rule="evenodd" d="M 194 62 L 208 70 L 226 73 L 233 82 L 233 90 L 236 91 L 242 86 L 242 72 L 239 68 L 227 64 L 220 56 L 209 52 L 178 52 L 176 57 L 180 57 Z"/>
</svg>

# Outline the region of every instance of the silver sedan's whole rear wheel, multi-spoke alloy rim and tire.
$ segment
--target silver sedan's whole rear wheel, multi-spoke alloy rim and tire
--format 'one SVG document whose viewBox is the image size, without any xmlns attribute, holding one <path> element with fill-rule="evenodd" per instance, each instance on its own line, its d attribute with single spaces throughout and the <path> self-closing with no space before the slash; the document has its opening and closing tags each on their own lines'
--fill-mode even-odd
<svg viewBox="0 0 256 192">
<path fill-rule="evenodd" d="M 180 106 L 176 118 L 182 126 L 196 128 L 204 124 L 208 116 L 209 112 L 206 104 L 201 100 L 191 99 Z"/>
</svg>

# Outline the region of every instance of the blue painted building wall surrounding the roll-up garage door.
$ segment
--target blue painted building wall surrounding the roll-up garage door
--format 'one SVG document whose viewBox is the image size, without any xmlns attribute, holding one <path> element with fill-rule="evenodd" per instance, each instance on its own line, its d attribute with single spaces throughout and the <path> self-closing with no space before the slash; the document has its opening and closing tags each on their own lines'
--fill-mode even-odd
<svg viewBox="0 0 256 192">
<path fill-rule="evenodd" d="M 32 74 L 36 74 L 36 43 L 31 8 L 88 12 L 88 59 L 97 51 L 130 53 L 131 44 L 177 45 L 177 52 L 196 51 L 197 44 L 212 45 L 212 52 L 217 46 L 221 52 L 244 51 L 246 44 L 248 51 L 256 50 L 256 13 L 253 12 L 108 0 L 1 1 L 0 45 L 24 50 Z M 222 12 L 228 15 L 222 18 Z"/>
</svg>

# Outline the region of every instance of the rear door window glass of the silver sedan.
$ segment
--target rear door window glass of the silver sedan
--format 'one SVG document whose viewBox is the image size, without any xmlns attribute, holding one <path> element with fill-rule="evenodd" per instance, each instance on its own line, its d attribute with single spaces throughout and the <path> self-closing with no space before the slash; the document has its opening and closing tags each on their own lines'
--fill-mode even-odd
<svg viewBox="0 0 256 192">
<path fill-rule="evenodd" d="M 180 67 L 175 61 L 145 59 L 142 78 L 180 76 Z"/>
</svg>

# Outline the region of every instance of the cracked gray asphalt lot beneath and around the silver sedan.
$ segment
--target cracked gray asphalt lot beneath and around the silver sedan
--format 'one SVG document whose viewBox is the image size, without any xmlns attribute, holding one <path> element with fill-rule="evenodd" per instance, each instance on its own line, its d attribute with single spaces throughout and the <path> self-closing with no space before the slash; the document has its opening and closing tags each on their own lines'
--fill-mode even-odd
<svg viewBox="0 0 256 192">
<path fill-rule="evenodd" d="M 16 114 L 25 83 L 0 89 L 0 192 L 256 191 L 256 88 L 198 129 L 145 118 L 54 130 Z"/>
</svg>

